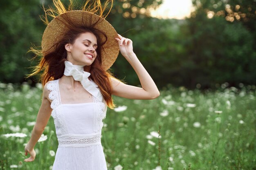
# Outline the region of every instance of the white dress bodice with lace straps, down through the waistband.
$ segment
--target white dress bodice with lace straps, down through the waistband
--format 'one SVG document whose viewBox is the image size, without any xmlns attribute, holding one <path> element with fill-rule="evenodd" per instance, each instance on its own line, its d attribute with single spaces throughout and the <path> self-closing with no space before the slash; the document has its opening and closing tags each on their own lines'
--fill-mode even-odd
<svg viewBox="0 0 256 170">
<path fill-rule="evenodd" d="M 94 83 L 95 84 L 95 83 Z M 97 86 L 95 84 L 95 86 Z M 59 79 L 49 81 L 47 89 L 52 100 L 52 117 L 58 147 L 83 147 L 101 143 L 102 119 L 106 117 L 106 102 L 92 95 L 92 101 L 81 104 L 62 104 Z"/>
</svg>

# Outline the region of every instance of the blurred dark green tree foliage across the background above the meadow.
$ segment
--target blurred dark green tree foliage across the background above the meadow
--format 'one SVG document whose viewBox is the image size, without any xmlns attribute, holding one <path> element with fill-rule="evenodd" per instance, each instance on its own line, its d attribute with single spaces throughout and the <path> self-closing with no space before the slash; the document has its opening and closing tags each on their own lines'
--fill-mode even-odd
<svg viewBox="0 0 256 170">
<path fill-rule="evenodd" d="M 68 4 L 68 0 L 63 0 Z M 52 0 L 11 0 L 0 5 L 0 82 L 34 85 L 25 79 L 33 53 L 40 46 L 45 25 L 42 4 Z M 83 3 L 82 0 L 77 0 Z M 168 84 L 187 88 L 215 88 L 256 84 L 256 1 L 192 0 L 190 18 L 150 17 L 162 0 L 115 0 L 107 20 L 133 41 L 134 51 L 159 89 Z M 140 84 L 130 64 L 119 55 L 111 67 L 119 79 Z"/>
</svg>

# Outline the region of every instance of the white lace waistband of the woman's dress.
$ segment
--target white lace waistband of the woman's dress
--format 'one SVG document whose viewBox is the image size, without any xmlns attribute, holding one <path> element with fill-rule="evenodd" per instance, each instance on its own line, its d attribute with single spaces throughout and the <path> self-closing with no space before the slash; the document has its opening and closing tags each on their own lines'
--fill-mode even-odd
<svg viewBox="0 0 256 170">
<path fill-rule="evenodd" d="M 84 147 L 101 144 L 101 134 L 65 134 L 58 136 L 58 147 Z"/>
</svg>

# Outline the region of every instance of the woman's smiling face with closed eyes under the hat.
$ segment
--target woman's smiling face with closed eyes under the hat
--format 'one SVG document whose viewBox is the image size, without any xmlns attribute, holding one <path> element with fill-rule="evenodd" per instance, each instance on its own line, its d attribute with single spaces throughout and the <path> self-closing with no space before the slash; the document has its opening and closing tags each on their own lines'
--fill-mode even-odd
<svg viewBox="0 0 256 170">
<path fill-rule="evenodd" d="M 91 65 L 97 56 L 97 38 L 93 33 L 81 33 L 74 44 L 65 44 L 67 60 L 74 65 Z"/>
</svg>

